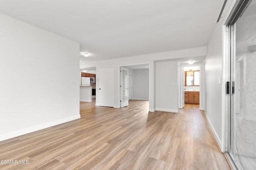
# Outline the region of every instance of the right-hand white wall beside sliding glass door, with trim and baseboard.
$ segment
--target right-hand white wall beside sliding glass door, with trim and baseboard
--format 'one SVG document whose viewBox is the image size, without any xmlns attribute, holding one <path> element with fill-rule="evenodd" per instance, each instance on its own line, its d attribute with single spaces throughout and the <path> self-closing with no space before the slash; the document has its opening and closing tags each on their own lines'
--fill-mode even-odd
<svg viewBox="0 0 256 170">
<path fill-rule="evenodd" d="M 224 24 L 230 17 L 235 2 L 236 0 L 227 1 L 220 22 L 215 24 L 212 30 L 205 59 L 205 113 L 222 151 L 224 151 L 224 123 L 226 122 L 225 83 L 223 82 L 228 81 L 226 70 L 223 69 L 226 69 L 227 65 Z"/>
</svg>

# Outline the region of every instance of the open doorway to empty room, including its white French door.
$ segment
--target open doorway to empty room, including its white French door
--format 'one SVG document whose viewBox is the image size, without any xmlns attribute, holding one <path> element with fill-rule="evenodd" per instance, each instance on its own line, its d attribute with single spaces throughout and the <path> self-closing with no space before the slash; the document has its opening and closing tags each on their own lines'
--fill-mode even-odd
<svg viewBox="0 0 256 170">
<path fill-rule="evenodd" d="M 120 107 L 129 100 L 149 100 L 149 63 L 120 66 Z"/>
</svg>

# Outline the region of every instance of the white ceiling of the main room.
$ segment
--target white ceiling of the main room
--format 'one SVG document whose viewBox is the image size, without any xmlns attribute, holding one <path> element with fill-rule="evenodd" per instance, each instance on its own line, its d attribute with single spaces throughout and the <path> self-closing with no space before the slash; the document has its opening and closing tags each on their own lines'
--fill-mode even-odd
<svg viewBox="0 0 256 170">
<path fill-rule="evenodd" d="M 0 13 L 74 40 L 81 60 L 96 61 L 206 46 L 222 1 L 0 0 Z"/>
</svg>

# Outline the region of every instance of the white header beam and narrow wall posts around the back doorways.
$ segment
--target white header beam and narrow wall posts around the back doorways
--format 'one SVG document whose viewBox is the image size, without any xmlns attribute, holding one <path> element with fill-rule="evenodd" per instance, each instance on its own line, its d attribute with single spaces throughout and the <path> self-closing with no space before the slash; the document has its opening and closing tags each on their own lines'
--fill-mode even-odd
<svg viewBox="0 0 256 170">
<path fill-rule="evenodd" d="M 125 65 L 136 65 L 149 63 L 149 111 L 155 111 L 156 109 L 156 89 L 155 89 L 155 61 L 166 60 L 166 59 L 176 59 L 182 57 L 200 57 L 206 55 L 206 47 L 198 47 L 192 49 L 182 49 L 176 51 L 167 51 L 161 53 L 152 53 L 145 55 L 138 55 L 132 57 L 124 57 L 118 59 L 110 59 L 104 61 L 91 61 L 91 62 L 81 62 L 80 68 L 96 67 L 96 105 L 98 104 L 98 76 L 100 67 L 114 67 L 114 107 L 120 107 L 120 66 Z"/>
</svg>

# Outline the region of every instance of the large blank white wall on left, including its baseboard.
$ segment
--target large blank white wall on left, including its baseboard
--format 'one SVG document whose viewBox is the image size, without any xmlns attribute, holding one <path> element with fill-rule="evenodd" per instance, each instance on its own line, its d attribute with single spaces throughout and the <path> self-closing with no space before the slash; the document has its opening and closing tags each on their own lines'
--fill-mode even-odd
<svg viewBox="0 0 256 170">
<path fill-rule="evenodd" d="M 0 21 L 0 140 L 79 119 L 79 44 Z"/>
</svg>

